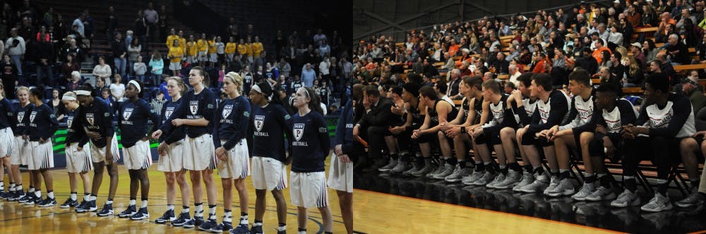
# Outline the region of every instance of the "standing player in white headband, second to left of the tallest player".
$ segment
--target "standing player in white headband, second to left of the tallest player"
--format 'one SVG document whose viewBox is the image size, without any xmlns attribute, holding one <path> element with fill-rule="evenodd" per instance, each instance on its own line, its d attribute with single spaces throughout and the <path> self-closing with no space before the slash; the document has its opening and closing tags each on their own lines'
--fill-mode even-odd
<svg viewBox="0 0 706 234">
<path fill-rule="evenodd" d="M 130 175 L 130 203 L 128 208 L 120 212 L 118 216 L 132 220 L 150 218 L 150 213 L 147 210 L 150 195 L 150 178 L 147 175 L 147 168 L 152 165 L 152 152 L 147 122 L 152 120 L 152 123 L 159 123 L 159 117 L 152 110 L 152 106 L 140 98 L 143 88 L 140 81 L 130 80 L 125 89 L 127 99 L 120 104 L 118 109 L 118 128 L 121 133 L 120 141 L 123 144 L 123 161 Z M 136 209 L 138 189 L 142 195 L 142 204 L 139 210 Z"/>
</svg>

